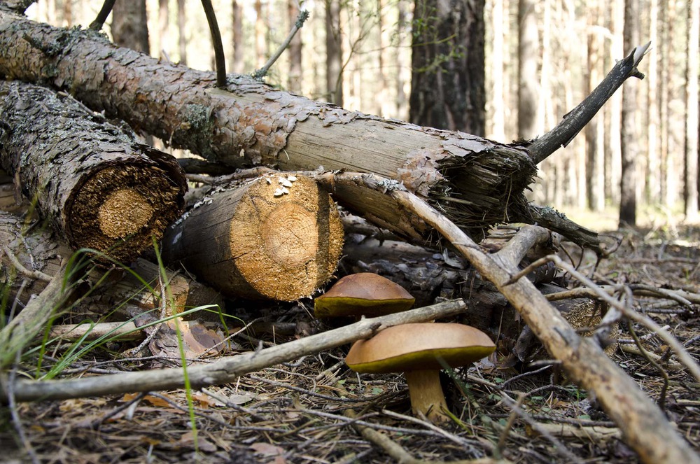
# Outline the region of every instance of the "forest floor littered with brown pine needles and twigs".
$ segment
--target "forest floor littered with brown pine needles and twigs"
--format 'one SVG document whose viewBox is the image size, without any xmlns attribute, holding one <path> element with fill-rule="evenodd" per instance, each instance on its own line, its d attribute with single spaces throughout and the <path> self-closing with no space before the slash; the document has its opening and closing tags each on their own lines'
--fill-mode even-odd
<svg viewBox="0 0 700 464">
<path fill-rule="evenodd" d="M 700 292 L 700 227 L 612 234 L 622 244 L 598 265 L 597 281 Z M 700 358 L 697 305 L 639 298 L 636 307 L 668 327 L 692 356 Z M 299 323 L 312 331 L 325 328 L 302 305 L 267 311 L 276 313 L 277 321 Z M 666 361 L 662 362 L 669 379 L 666 392 L 659 370 L 623 350 L 631 344 L 620 343 L 612 359 L 651 398 L 663 403 L 678 433 L 700 451 L 700 386 L 673 356 L 668 357 L 658 338 L 644 337 L 645 330 L 636 329 L 645 349 Z M 240 350 L 294 336 L 255 337 L 239 337 Z M 629 342 L 627 328 L 622 328 L 619 339 Z M 121 359 L 119 351 L 129 346 L 90 353 L 64 370 L 62 377 L 173 365 L 164 358 Z M 454 376 L 444 379 L 454 421 L 436 427 L 410 415 L 400 375 L 358 376 L 342 363 L 345 353 L 346 347 L 334 349 L 248 374 L 232 384 L 194 391 L 194 421 L 183 390 L 142 398 L 128 394 L 22 403 L 15 410 L 19 421 L 3 407 L 0 461 L 27 462 L 34 456 L 42 463 L 386 463 L 395 461 L 387 455 L 391 445 L 386 441 L 391 440 L 407 454 L 427 461 L 503 456 L 521 463 L 568 463 L 576 458 L 586 463 L 636 462 L 636 454 L 593 395 L 568 383 L 552 365 L 528 371 L 493 357 L 455 370 Z M 60 353 L 50 355 L 43 363 L 55 362 Z M 18 371 L 29 366 L 28 361 Z M 520 398 L 517 414 L 509 398 Z M 379 444 L 382 440 L 384 445 Z"/>
</svg>

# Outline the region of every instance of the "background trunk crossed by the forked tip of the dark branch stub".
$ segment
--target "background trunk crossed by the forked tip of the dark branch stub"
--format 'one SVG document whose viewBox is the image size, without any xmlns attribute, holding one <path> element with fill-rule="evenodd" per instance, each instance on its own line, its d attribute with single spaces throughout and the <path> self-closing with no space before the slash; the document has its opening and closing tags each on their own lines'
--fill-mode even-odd
<svg viewBox="0 0 700 464">
<path fill-rule="evenodd" d="M 632 50 L 639 43 L 639 1 L 624 1 L 624 49 Z M 619 225 L 636 225 L 636 82 L 622 87 L 622 178 L 620 179 Z"/>
</svg>

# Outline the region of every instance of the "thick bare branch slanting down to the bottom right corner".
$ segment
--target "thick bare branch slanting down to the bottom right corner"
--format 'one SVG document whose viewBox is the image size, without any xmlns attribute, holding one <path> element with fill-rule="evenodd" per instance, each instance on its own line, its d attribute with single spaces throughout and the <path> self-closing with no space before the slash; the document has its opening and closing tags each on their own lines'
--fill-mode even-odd
<svg viewBox="0 0 700 464">
<path fill-rule="evenodd" d="M 547 351 L 561 361 L 572 379 L 583 388 L 596 393 L 610 418 L 623 430 L 626 443 L 639 454 L 641 461 L 700 464 L 700 457 L 673 430 L 659 407 L 619 366 L 612 363 L 600 346 L 580 337 L 533 283 L 528 279 L 519 279 L 508 285 L 518 263 L 506 263 L 500 259 L 500 265 L 497 264 L 492 256 L 484 254 L 454 223 L 416 195 L 400 187 L 389 193 L 402 206 L 435 227 L 442 237 L 469 260 L 477 272 L 496 285 Z M 606 293 L 601 293 L 610 298 Z M 640 316 L 636 314 L 636 317 Z M 687 353 L 685 355 L 689 357 Z"/>
</svg>

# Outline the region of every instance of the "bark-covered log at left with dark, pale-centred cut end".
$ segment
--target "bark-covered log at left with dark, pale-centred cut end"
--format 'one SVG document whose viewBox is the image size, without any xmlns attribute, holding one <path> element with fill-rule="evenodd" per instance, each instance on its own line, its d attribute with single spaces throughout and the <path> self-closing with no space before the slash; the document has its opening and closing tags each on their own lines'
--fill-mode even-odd
<svg viewBox="0 0 700 464">
<path fill-rule="evenodd" d="M 183 208 L 174 158 L 67 94 L 0 82 L 0 164 L 73 247 L 130 262 Z"/>
</svg>

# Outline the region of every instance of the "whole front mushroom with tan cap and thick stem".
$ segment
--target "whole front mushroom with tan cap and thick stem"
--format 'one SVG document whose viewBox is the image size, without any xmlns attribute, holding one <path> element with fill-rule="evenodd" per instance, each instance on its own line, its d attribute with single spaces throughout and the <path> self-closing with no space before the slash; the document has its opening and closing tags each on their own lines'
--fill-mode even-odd
<svg viewBox="0 0 700 464">
<path fill-rule="evenodd" d="M 440 370 L 469 365 L 495 349 L 488 335 L 469 325 L 403 324 L 355 342 L 345 363 L 355 372 L 404 372 L 414 414 L 439 423 L 449 421 Z"/>
</svg>

